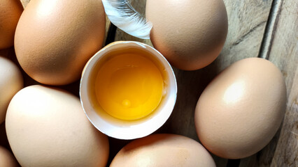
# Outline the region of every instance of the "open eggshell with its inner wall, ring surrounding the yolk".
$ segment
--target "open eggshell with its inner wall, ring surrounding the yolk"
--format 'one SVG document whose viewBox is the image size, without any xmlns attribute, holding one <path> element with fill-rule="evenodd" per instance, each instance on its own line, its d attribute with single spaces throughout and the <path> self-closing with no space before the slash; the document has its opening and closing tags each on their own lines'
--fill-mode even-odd
<svg viewBox="0 0 298 167">
<path fill-rule="evenodd" d="M 120 120 L 101 108 L 94 90 L 98 70 L 117 54 L 140 54 L 150 58 L 159 68 L 164 80 L 164 95 L 159 105 L 149 116 L 138 120 Z M 87 62 L 80 79 L 80 100 L 83 109 L 94 127 L 113 138 L 130 140 L 148 136 L 164 125 L 176 103 L 177 83 L 171 65 L 164 56 L 149 45 L 136 41 L 118 41 L 106 45 Z"/>
</svg>

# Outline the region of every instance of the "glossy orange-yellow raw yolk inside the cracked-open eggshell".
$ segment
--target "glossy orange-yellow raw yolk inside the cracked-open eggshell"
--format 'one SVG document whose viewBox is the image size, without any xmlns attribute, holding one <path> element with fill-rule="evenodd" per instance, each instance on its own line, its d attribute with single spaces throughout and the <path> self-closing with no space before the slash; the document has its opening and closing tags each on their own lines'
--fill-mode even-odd
<svg viewBox="0 0 298 167">
<path fill-rule="evenodd" d="M 164 81 L 145 56 L 120 54 L 108 59 L 97 73 L 97 101 L 106 113 L 122 120 L 148 116 L 162 100 Z"/>
</svg>

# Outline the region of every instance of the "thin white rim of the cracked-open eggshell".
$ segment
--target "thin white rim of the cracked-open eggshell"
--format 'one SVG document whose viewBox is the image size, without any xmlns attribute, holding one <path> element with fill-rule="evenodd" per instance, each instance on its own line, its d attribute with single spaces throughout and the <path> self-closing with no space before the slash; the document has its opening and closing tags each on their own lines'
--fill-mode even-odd
<svg viewBox="0 0 298 167">
<path fill-rule="evenodd" d="M 144 122 L 138 122 L 135 124 L 123 124 L 123 125 L 116 125 L 113 122 L 106 120 L 105 118 L 99 116 L 96 111 L 92 108 L 92 104 L 89 100 L 88 93 L 87 93 L 87 83 L 88 83 L 88 77 L 91 72 L 92 67 L 100 61 L 100 58 L 111 49 L 117 47 L 117 45 L 123 45 L 121 48 L 126 48 L 129 46 L 133 47 L 141 47 L 143 49 L 146 49 L 146 51 L 149 51 L 154 55 L 158 61 L 164 65 L 166 69 L 166 73 L 169 74 L 169 85 L 171 87 L 171 91 L 169 92 L 168 98 L 159 112 L 155 114 L 155 116 L 151 116 Z M 106 134 L 107 136 L 111 136 L 113 138 L 118 139 L 135 139 L 135 138 L 142 138 L 144 136 L 148 136 L 149 134 L 152 134 L 155 132 L 159 127 L 162 127 L 166 120 L 168 120 L 169 116 L 171 116 L 171 112 L 173 111 L 173 107 L 176 104 L 176 97 L 177 97 L 177 82 L 176 77 L 173 72 L 173 69 L 168 61 L 166 61 L 166 58 L 162 56 L 162 54 L 157 51 L 155 48 L 146 45 L 142 42 L 136 42 L 136 41 L 118 41 L 118 42 L 112 42 L 109 45 L 106 45 L 103 49 L 99 50 L 90 60 L 86 63 L 82 77 L 80 79 L 80 102 L 83 106 L 83 110 L 85 112 L 85 115 L 90 120 L 92 125 L 96 127 L 100 132 Z M 115 118 L 113 118 L 115 119 Z M 124 121 L 124 120 L 119 120 Z M 129 121 L 134 122 L 134 121 Z"/>
</svg>

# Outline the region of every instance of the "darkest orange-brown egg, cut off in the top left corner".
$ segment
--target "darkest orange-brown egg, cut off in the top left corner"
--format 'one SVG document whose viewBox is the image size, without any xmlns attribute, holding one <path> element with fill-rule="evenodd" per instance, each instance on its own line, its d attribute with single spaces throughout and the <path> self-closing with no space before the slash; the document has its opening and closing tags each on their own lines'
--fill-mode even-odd
<svg viewBox="0 0 298 167">
<path fill-rule="evenodd" d="M 0 49 L 13 46 L 15 27 L 23 11 L 20 0 L 0 1 Z"/>
</svg>

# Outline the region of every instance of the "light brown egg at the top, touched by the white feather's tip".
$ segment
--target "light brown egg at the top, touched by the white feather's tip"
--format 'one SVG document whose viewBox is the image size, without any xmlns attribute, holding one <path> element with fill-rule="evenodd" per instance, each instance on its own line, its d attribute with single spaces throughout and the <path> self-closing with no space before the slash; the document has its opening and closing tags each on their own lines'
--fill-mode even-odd
<svg viewBox="0 0 298 167">
<path fill-rule="evenodd" d="M 198 70 L 218 57 L 227 37 L 227 11 L 222 0 L 148 0 L 150 39 L 171 65 Z"/>
</svg>

